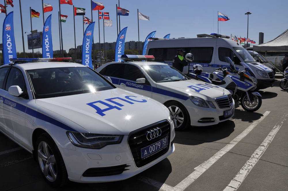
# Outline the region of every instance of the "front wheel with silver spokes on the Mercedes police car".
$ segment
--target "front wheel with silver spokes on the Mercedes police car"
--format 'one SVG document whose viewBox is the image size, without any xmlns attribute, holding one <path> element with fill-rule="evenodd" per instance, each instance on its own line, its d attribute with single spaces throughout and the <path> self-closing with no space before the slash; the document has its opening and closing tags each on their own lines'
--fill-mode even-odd
<svg viewBox="0 0 288 191">
<path fill-rule="evenodd" d="M 190 116 L 186 108 L 179 102 L 172 101 L 164 104 L 170 111 L 175 131 L 183 131 L 190 125 Z M 181 119 L 183 122 L 181 123 Z"/>
</svg>

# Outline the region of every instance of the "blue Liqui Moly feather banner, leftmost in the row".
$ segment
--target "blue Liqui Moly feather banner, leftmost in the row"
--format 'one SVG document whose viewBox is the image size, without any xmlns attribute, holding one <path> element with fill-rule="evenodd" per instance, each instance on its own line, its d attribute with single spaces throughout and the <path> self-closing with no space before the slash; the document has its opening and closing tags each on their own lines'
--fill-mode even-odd
<svg viewBox="0 0 288 191">
<path fill-rule="evenodd" d="M 10 12 L 4 19 L 3 32 L 3 58 L 4 64 L 9 64 L 10 58 L 17 58 L 15 38 L 14 38 L 14 25 L 13 25 L 13 11 Z"/>
</svg>

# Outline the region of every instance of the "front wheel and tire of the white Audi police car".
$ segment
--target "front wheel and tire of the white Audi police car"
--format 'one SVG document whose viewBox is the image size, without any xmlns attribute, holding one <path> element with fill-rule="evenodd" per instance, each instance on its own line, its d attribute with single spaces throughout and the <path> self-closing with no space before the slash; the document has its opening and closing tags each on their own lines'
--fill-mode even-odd
<svg viewBox="0 0 288 191">
<path fill-rule="evenodd" d="M 45 149 L 44 149 L 45 147 Z M 47 152 L 48 151 L 48 152 Z M 45 181 L 52 187 L 67 184 L 68 174 L 62 155 L 48 133 L 41 134 L 35 143 L 35 158 Z M 49 156 L 50 155 L 50 156 Z M 46 161 L 43 160 L 46 156 Z M 49 157 L 47 157 L 49 156 Z M 46 168 L 46 166 L 48 166 Z M 47 170 L 48 169 L 48 170 Z M 46 172 L 46 175 L 44 174 Z M 55 177 L 56 174 L 56 177 Z"/>
</svg>

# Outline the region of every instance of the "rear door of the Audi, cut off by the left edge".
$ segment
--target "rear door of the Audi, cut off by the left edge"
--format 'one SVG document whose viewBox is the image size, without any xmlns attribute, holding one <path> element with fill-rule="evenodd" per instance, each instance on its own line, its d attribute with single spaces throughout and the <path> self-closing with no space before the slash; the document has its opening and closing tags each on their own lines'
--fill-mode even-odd
<svg viewBox="0 0 288 191">
<path fill-rule="evenodd" d="M 7 132 L 6 132 L 6 124 L 5 124 L 5 120 L 3 116 L 3 100 L 4 100 L 4 96 L 7 94 L 7 91 L 3 89 L 3 86 L 4 86 L 9 69 L 10 69 L 9 66 L 0 69 L 0 129 L 4 133 L 7 133 Z"/>
</svg>

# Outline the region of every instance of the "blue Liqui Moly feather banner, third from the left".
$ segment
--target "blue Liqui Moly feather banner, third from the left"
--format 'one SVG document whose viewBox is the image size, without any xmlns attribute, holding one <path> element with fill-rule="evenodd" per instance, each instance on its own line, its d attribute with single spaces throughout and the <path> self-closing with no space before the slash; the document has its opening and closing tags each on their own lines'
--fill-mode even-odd
<svg viewBox="0 0 288 191">
<path fill-rule="evenodd" d="M 93 69 L 92 65 L 92 42 L 94 33 L 95 22 L 90 23 L 84 33 L 83 43 L 82 43 L 82 64 Z"/>
</svg>

